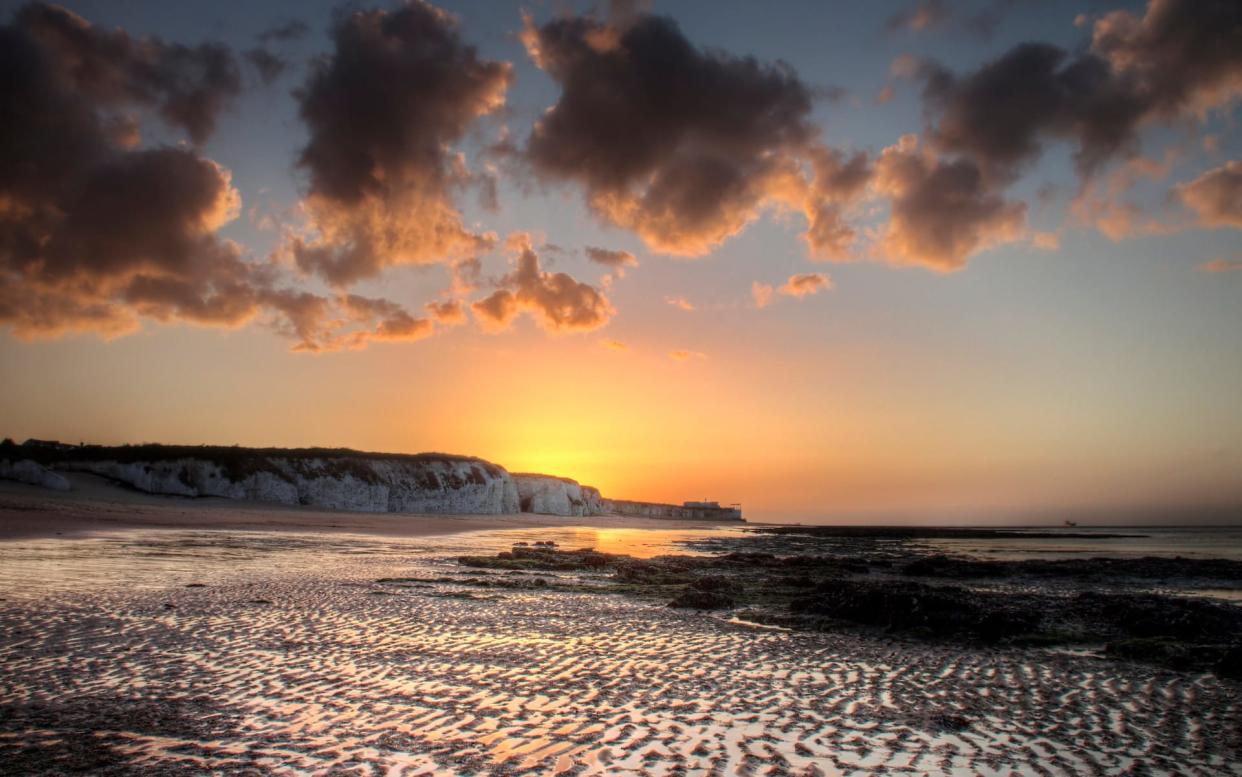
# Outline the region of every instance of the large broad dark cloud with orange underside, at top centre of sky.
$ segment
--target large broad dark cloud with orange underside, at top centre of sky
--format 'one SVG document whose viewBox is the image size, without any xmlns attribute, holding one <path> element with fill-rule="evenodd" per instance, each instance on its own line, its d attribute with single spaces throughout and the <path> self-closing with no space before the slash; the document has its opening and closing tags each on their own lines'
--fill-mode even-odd
<svg viewBox="0 0 1242 777">
<path fill-rule="evenodd" d="M 789 66 L 693 46 L 667 17 L 529 19 L 523 42 L 560 84 L 523 151 L 655 251 L 700 256 L 764 207 L 814 216 L 814 93 Z"/>
</svg>

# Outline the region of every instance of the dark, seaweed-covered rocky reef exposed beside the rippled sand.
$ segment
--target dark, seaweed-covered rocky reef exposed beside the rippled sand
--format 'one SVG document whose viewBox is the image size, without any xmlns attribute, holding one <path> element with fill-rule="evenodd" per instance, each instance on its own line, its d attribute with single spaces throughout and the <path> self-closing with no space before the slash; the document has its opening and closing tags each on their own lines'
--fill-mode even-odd
<svg viewBox="0 0 1242 777">
<path fill-rule="evenodd" d="M 919 560 L 914 554 L 907 564 L 739 551 L 633 559 L 540 545 L 462 556 L 458 562 L 512 573 L 580 572 L 578 580 L 546 587 L 627 593 L 678 608 L 734 609 L 748 622 L 800 631 L 1013 648 L 1103 647 L 1102 655 L 1113 659 L 1242 679 L 1242 607 L 1141 586 L 1159 580 L 1170 587 L 1197 581 L 1238 588 L 1237 561 L 1081 559 L 997 567 L 944 556 Z M 987 576 L 992 585 L 932 582 L 929 571 L 940 578 Z M 1061 585 L 1037 585 L 1049 578 Z"/>
</svg>

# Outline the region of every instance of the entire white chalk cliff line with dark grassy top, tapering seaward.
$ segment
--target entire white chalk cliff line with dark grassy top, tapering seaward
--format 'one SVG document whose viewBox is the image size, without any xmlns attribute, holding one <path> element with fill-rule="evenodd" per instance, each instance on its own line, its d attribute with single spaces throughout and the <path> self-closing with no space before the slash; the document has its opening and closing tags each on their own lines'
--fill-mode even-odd
<svg viewBox="0 0 1242 777">
<path fill-rule="evenodd" d="M 483 459 L 441 453 L 383 454 L 332 448 L 66 446 L 0 443 L 0 479 L 56 490 L 56 470 L 88 472 L 149 494 L 219 496 L 365 513 L 465 515 L 641 515 L 738 520 L 719 509 L 611 500 L 569 478 L 509 474 Z"/>
</svg>

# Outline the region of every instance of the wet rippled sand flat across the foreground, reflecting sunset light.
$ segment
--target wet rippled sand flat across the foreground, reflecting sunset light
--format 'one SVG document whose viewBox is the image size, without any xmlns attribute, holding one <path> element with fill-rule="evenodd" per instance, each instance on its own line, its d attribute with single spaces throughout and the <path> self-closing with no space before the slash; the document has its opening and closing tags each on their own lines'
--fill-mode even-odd
<svg viewBox="0 0 1242 777">
<path fill-rule="evenodd" d="M 227 573 L 148 556 L 143 585 L 82 585 L 72 560 L 37 596 L 6 578 L 0 771 L 1242 775 L 1242 694 L 1211 675 L 373 582 L 451 577 L 446 557 L 512 535 L 245 554 L 265 536 L 229 535 Z"/>
</svg>

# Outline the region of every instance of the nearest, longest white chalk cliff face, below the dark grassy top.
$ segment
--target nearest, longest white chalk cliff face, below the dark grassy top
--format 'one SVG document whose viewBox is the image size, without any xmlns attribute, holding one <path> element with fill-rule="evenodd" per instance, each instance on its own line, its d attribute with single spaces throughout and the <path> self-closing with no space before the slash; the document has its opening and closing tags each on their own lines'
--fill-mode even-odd
<svg viewBox="0 0 1242 777">
<path fill-rule="evenodd" d="M 68 460 L 60 467 L 112 478 L 152 494 L 368 513 L 518 511 L 518 492 L 509 473 L 471 459 L 255 457 L 221 463 L 186 457 Z"/>
</svg>

